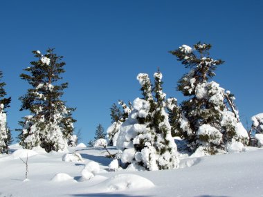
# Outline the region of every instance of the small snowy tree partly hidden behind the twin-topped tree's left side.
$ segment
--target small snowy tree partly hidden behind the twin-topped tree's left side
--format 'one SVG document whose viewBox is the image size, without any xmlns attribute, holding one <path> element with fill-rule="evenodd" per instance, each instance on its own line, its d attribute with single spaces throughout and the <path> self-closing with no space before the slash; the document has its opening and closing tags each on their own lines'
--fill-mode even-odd
<svg viewBox="0 0 263 197">
<path fill-rule="evenodd" d="M 129 113 L 132 111 L 131 102 L 129 106 L 125 104 L 122 100 L 118 102 L 122 107 L 118 107 L 115 103 L 111 106 L 111 126 L 107 129 L 107 139 L 109 146 L 116 146 L 116 141 L 120 133 L 120 126 L 128 118 Z"/>
</svg>

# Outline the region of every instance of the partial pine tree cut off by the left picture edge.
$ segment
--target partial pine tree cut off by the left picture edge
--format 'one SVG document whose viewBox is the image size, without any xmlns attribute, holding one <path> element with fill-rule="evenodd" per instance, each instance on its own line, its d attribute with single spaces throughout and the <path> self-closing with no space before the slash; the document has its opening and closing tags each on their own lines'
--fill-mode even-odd
<svg viewBox="0 0 263 197">
<path fill-rule="evenodd" d="M 0 80 L 3 77 L 3 72 L 0 71 Z M 10 106 L 11 97 L 5 98 L 6 91 L 3 88 L 6 86 L 5 82 L 0 82 L 0 154 L 8 153 L 8 145 L 12 142 L 10 129 L 6 122 L 6 111 L 4 109 Z"/>
</svg>

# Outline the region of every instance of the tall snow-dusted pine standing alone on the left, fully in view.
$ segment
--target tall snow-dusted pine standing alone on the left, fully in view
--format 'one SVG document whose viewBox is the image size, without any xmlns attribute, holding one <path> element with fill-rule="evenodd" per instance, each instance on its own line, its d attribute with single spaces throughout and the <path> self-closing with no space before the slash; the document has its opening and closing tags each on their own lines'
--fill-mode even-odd
<svg viewBox="0 0 263 197">
<path fill-rule="evenodd" d="M 68 145 L 75 145 L 75 120 L 71 114 L 75 109 L 67 107 L 61 100 L 68 83 L 59 83 L 66 63 L 53 49 L 46 50 L 45 55 L 39 50 L 33 54 L 37 60 L 24 69 L 29 74 L 20 75 L 32 88 L 19 97 L 22 102 L 20 110 L 30 111 L 30 115 L 19 122 L 22 126 L 22 129 L 17 129 L 20 131 L 19 144 L 26 149 L 40 146 L 48 152 L 60 151 Z"/>
</svg>

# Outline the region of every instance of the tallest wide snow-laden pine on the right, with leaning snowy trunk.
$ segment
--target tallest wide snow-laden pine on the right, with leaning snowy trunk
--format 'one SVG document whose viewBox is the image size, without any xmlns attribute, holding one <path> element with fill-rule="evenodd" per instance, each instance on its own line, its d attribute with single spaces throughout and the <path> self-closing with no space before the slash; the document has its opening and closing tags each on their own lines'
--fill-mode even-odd
<svg viewBox="0 0 263 197">
<path fill-rule="evenodd" d="M 170 53 L 185 68 L 190 68 L 177 86 L 178 91 L 190 97 L 181 104 L 182 115 L 177 130 L 188 140 L 192 151 L 204 147 L 208 153 L 216 153 L 219 149 L 226 150 L 230 142 L 246 144 L 248 135 L 239 122 L 235 97 L 216 82 L 208 82 L 215 76 L 217 66 L 224 63 L 209 57 L 211 47 L 199 42 L 193 48 L 183 45 Z"/>
</svg>

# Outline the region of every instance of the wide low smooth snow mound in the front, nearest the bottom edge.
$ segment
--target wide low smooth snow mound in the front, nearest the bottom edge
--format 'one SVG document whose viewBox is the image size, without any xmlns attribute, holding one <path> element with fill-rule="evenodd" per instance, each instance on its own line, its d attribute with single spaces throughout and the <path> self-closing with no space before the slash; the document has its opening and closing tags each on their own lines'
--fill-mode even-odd
<svg viewBox="0 0 263 197">
<path fill-rule="evenodd" d="M 147 178 L 135 174 L 119 174 L 97 185 L 107 188 L 107 191 L 123 191 L 127 189 L 147 189 L 154 187 L 154 183 Z"/>
</svg>

